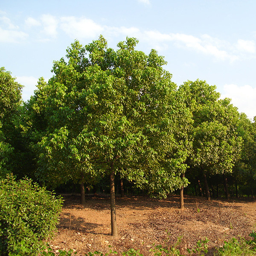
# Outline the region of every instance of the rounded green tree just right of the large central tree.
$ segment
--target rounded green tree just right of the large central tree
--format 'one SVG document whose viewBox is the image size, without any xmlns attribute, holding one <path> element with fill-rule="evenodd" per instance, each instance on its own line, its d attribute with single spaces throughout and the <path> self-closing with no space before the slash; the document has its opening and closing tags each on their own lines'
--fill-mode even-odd
<svg viewBox="0 0 256 256">
<path fill-rule="evenodd" d="M 204 176 L 208 200 L 207 175 L 232 172 L 241 150 L 241 137 L 237 133 L 239 113 L 230 99 L 218 99 L 220 94 L 215 89 L 199 80 L 187 81 L 179 88 L 186 95 L 194 120 L 189 165 Z"/>
</svg>

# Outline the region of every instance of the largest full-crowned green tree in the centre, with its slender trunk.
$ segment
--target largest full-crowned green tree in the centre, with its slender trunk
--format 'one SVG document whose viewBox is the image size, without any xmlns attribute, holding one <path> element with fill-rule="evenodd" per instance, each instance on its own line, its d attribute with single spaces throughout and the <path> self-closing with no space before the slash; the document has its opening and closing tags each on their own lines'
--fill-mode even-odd
<svg viewBox="0 0 256 256">
<path fill-rule="evenodd" d="M 175 135 L 176 85 L 163 57 L 135 50 L 137 43 L 127 38 L 114 51 L 102 36 L 85 47 L 75 41 L 30 105 L 47 120 L 37 144 L 38 177 L 59 184 L 109 175 L 113 236 L 117 173 L 153 196 L 187 184 L 186 141 Z"/>
</svg>

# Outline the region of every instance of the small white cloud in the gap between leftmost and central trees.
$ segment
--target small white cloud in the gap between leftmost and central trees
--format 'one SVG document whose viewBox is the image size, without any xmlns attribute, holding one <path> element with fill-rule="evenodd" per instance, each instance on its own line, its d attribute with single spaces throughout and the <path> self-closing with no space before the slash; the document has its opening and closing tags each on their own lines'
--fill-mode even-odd
<svg viewBox="0 0 256 256">
<path fill-rule="evenodd" d="M 22 99 L 27 101 L 30 99 L 30 96 L 34 94 L 34 90 L 38 84 L 38 79 L 33 76 L 17 76 L 16 81 L 24 85 L 22 90 Z"/>
</svg>

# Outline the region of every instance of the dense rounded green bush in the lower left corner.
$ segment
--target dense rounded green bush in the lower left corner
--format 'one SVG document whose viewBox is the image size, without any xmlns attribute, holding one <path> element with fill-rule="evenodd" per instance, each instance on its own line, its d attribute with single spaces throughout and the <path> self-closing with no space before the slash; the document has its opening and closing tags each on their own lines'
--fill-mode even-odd
<svg viewBox="0 0 256 256">
<path fill-rule="evenodd" d="M 32 180 L 0 180 L 0 255 L 37 255 L 58 223 L 62 200 Z"/>
</svg>

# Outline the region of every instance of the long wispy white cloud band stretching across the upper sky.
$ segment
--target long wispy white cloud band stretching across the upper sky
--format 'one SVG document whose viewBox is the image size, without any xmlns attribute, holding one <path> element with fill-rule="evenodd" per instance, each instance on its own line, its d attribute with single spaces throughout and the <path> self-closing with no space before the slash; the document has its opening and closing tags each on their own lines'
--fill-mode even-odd
<svg viewBox="0 0 256 256">
<path fill-rule="evenodd" d="M 138 1 L 150 3 L 149 0 Z M 0 27 L 0 41 L 15 42 L 28 37 L 28 34 L 15 26 L 5 14 L 0 17 L 0 22 L 4 25 L 4 29 Z M 96 38 L 100 34 L 107 35 L 108 38 L 132 36 L 150 44 L 151 48 L 166 50 L 170 47 L 177 47 L 208 55 L 218 61 L 234 62 L 246 58 L 256 58 L 255 41 L 241 38 L 235 42 L 229 42 L 207 34 L 195 36 L 183 33 L 162 33 L 157 30 L 142 31 L 137 27 L 106 26 L 86 17 L 56 17 L 46 14 L 38 18 L 28 17 L 24 24 L 27 29 L 26 32 L 31 32 L 29 29 L 38 28 L 36 37 L 37 39 L 40 38 L 41 41 L 57 38 L 58 34 L 63 32 L 70 38 L 78 39 Z"/>
</svg>

